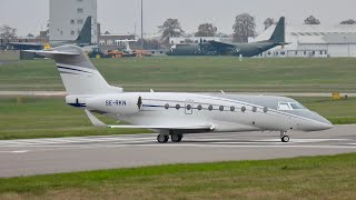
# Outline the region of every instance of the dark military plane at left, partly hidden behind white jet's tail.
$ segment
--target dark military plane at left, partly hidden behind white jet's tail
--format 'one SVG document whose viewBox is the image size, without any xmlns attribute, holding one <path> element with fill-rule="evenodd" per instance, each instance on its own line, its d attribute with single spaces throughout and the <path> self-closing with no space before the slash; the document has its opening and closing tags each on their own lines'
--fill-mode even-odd
<svg viewBox="0 0 356 200">
<path fill-rule="evenodd" d="M 76 44 L 79 47 L 91 46 L 91 19 L 92 17 L 88 17 L 80 34 L 76 40 L 66 40 L 66 41 L 51 41 L 49 43 L 41 42 L 8 42 L 4 46 L 11 46 L 17 50 L 41 50 L 41 49 L 50 49 L 53 47 L 59 47 L 63 44 Z"/>
</svg>

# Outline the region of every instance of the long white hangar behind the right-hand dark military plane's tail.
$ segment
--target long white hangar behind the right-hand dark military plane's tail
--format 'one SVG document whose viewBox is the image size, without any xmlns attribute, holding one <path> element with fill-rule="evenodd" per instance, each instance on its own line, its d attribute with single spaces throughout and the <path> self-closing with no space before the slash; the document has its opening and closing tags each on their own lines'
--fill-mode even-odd
<svg viewBox="0 0 356 200">
<path fill-rule="evenodd" d="M 275 26 L 269 27 L 249 42 L 268 40 L 274 29 Z M 356 26 L 286 26 L 286 42 L 290 44 L 270 49 L 260 57 L 356 57 Z"/>
</svg>

